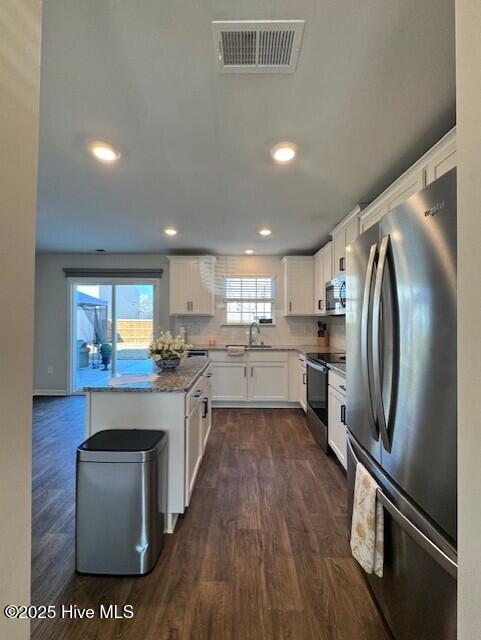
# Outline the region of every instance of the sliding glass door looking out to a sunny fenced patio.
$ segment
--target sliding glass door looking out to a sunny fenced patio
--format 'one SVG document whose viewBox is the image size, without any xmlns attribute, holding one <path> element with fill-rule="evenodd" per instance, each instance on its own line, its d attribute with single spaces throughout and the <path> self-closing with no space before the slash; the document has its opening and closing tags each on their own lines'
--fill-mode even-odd
<svg viewBox="0 0 481 640">
<path fill-rule="evenodd" d="M 107 384 L 112 375 L 148 373 L 157 331 L 156 282 L 72 282 L 71 391 Z"/>
</svg>

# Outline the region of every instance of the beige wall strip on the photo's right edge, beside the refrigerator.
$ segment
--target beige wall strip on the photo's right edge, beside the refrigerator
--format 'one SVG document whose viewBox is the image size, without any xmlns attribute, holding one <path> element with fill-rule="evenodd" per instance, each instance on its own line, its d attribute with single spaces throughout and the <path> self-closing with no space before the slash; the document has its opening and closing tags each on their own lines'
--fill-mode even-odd
<svg viewBox="0 0 481 640">
<path fill-rule="evenodd" d="M 481 633 L 481 4 L 457 0 L 458 638 Z"/>
</svg>

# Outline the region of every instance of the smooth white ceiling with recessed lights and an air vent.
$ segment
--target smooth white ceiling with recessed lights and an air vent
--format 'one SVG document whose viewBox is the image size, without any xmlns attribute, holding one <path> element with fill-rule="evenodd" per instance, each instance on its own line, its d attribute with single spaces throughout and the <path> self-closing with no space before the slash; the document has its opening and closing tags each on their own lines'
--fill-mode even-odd
<svg viewBox="0 0 481 640">
<path fill-rule="evenodd" d="M 218 73 L 212 20 L 296 18 L 294 74 Z M 38 250 L 308 251 L 454 121 L 454 0 L 44 0 Z"/>
</svg>

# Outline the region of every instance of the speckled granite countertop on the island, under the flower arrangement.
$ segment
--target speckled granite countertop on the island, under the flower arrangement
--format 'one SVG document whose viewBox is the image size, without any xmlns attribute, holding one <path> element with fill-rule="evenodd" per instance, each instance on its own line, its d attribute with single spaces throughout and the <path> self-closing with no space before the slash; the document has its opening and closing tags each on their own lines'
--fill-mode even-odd
<svg viewBox="0 0 481 640">
<path fill-rule="evenodd" d="M 205 358 L 203 356 L 185 358 L 177 369 L 172 371 L 162 371 L 161 373 L 158 373 L 155 380 L 152 381 L 130 381 L 123 385 L 119 384 L 122 376 L 116 376 L 116 386 L 109 386 L 106 384 L 98 387 L 84 387 L 84 391 L 88 393 L 186 393 L 192 389 L 209 364 L 209 358 Z M 131 379 L 131 376 L 127 377 L 130 377 Z"/>
</svg>

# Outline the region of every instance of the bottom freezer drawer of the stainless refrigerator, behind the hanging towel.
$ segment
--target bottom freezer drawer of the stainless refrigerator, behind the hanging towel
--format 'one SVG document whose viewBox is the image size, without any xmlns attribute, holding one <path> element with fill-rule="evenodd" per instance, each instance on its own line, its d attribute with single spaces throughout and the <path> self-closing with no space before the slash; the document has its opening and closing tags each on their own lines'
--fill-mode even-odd
<svg viewBox="0 0 481 640">
<path fill-rule="evenodd" d="M 350 513 L 356 463 L 349 444 Z M 384 507 L 384 576 L 366 574 L 366 578 L 394 638 L 455 640 L 455 559 L 420 532 L 389 498 Z"/>
</svg>

